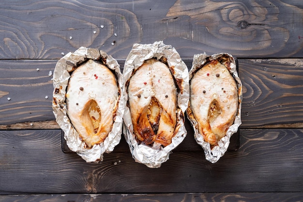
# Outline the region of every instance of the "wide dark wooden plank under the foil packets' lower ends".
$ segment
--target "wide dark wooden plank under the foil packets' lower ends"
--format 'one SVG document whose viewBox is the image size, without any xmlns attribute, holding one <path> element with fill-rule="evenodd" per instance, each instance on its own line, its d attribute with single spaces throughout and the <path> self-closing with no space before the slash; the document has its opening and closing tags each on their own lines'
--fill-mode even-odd
<svg viewBox="0 0 303 202">
<path fill-rule="evenodd" d="M 217 163 L 173 152 L 158 169 L 116 150 L 101 164 L 61 151 L 60 130 L 0 131 L 0 194 L 301 192 L 303 129 L 242 130 Z"/>
</svg>

